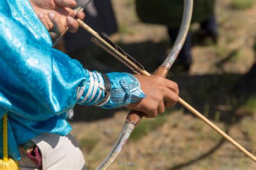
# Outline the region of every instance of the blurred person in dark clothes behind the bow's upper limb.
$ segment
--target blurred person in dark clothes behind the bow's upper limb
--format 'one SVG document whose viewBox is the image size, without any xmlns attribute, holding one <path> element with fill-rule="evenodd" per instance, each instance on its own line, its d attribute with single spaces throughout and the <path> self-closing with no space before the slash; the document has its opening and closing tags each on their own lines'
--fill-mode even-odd
<svg viewBox="0 0 256 170">
<path fill-rule="evenodd" d="M 214 15 L 215 0 L 194 0 L 194 9 L 191 23 L 200 23 L 197 34 L 200 38 L 210 37 L 217 42 L 217 22 Z M 166 25 L 170 40 L 174 42 L 178 36 L 183 16 L 184 1 L 180 0 L 136 0 L 136 10 L 140 20 L 144 23 Z M 192 36 L 188 33 L 185 44 L 180 51 L 176 65 L 181 70 L 188 71 L 192 63 Z M 163 62 L 165 57 L 159 61 Z"/>
</svg>

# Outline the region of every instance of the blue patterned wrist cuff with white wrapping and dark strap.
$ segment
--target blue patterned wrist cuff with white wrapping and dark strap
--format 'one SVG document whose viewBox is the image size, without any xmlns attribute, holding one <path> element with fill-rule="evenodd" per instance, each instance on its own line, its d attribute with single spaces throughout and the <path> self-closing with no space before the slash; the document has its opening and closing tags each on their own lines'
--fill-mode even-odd
<svg viewBox="0 0 256 170">
<path fill-rule="evenodd" d="M 146 95 L 140 89 L 140 83 L 128 73 L 90 72 L 84 69 L 88 77 L 77 88 L 77 103 L 96 105 L 105 109 L 120 108 L 138 102 Z"/>
</svg>

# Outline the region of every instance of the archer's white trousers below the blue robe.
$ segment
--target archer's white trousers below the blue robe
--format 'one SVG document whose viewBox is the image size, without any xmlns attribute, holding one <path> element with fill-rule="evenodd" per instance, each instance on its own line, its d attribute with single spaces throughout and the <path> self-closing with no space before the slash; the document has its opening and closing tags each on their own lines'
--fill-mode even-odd
<svg viewBox="0 0 256 170">
<path fill-rule="evenodd" d="M 57 134 L 43 133 L 40 136 L 31 139 L 42 154 L 42 169 L 86 169 L 82 151 L 79 149 L 75 138 L 68 134 L 67 136 L 58 136 Z M 19 160 L 21 170 L 40 169 L 37 167 L 22 146 L 19 147 L 22 159 Z"/>
</svg>

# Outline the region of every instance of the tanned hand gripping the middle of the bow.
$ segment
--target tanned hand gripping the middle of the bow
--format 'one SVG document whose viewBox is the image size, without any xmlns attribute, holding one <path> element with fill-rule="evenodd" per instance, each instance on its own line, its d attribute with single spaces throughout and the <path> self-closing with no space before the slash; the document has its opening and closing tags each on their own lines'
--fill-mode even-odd
<svg viewBox="0 0 256 170">
<path fill-rule="evenodd" d="M 140 88 L 146 95 L 142 101 L 131 103 L 129 109 L 142 111 L 145 117 L 156 117 L 165 108 L 172 108 L 178 102 L 179 88 L 176 82 L 160 76 L 134 75 L 140 82 Z"/>
</svg>

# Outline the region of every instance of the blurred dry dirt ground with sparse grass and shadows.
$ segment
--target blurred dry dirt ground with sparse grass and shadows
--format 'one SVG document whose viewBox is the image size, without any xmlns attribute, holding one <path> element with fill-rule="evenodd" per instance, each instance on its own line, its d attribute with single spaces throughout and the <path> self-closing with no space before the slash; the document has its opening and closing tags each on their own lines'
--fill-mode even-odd
<svg viewBox="0 0 256 170">
<path fill-rule="evenodd" d="M 133 0 L 112 1 L 119 33 L 110 38 L 153 72 L 158 58 L 171 47 L 165 26 L 140 23 Z M 255 62 L 256 4 L 238 10 L 231 0 L 217 0 L 219 24 L 217 44 L 206 40 L 194 43 L 193 64 L 188 74 L 171 72 L 179 84 L 180 97 L 210 118 L 248 151 L 256 155 L 255 87 L 239 86 Z M 191 31 L 198 24 L 191 25 Z M 103 58 L 110 72 L 128 71 L 119 61 L 98 47 L 85 49 L 80 56 Z M 88 60 L 81 61 L 88 64 Z M 97 69 L 97 68 L 94 68 Z M 101 69 L 101 68 L 99 68 Z M 255 84 L 255 75 L 247 83 Z M 82 147 L 87 169 L 95 169 L 110 151 L 129 110 L 75 108 L 72 135 Z M 132 162 L 136 165 L 125 165 Z M 131 140 L 109 169 L 256 169 L 256 164 L 225 141 L 203 121 L 181 105 L 166 110 L 156 119 L 143 119 Z"/>
</svg>

